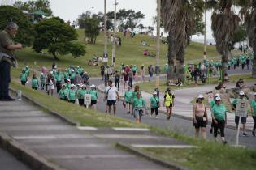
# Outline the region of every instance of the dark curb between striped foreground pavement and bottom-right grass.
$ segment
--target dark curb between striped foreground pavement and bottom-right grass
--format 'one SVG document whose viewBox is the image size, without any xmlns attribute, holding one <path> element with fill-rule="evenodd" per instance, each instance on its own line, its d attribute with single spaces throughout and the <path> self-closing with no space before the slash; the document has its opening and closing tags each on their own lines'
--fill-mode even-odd
<svg viewBox="0 0 256 170">
<path fill-rule="evenodd" d="M 171 169 L 176 169 L 176 170 L 189 170 L 189 168 L 181 167 L 178 164 L 174 164 L 174 163 L 171 163 L 169 161 L 167 162 L 167 161 L 158 159 L 158 158 L 156 158 L 152 155 L 147 155 L 142 151 L 138 151 L 134 147 L 129 147 L 128 145 L 125 145 L 125 144 L 120 143 L 120 142 L 115 143 L 115 147 L 120 148 L 124 151 L 128 151 L 128 152 L 132 153 L 133 155 L 141 156 L 141 157 L 143 157 L 145 159 L 148 159 L 148 160 L 154 162 L 155 164 L 159 164 L 159 165 L 161 165 L 165 168 L 171 168 Z"/>
</svg>

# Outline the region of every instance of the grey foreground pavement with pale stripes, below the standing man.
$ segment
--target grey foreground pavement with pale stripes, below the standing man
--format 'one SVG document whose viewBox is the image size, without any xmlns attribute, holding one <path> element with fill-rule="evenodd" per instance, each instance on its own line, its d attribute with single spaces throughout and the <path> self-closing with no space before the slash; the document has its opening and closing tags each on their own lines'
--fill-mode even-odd
<svg viewBox="0 0 256 170">
<path fill-rule="evenodd" d="M 74 127 L 30 102 L 0 102 L 0 130 L 50 162 L 70 170 L 162 170 L 158 164 L 121 151 L 131 147 L 193 147 L 147 129 Z"/>
</svg>

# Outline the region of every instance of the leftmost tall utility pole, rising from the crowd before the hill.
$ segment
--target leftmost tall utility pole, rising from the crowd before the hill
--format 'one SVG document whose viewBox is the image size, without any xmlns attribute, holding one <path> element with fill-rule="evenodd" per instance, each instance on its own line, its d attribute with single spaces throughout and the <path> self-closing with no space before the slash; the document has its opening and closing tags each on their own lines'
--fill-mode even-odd
<svg viewBox="0 0 256 170">
<path fill-rule="evenodd" d="M 106 66 L 108 62 L 108 54 L 107 54 L 107 36 L 106 36 L 106 0 L 104 0 L 104 53 L 103 53 L 103 62 L 105 65 L 105 72 L 104 72 L 104 83 L 107 86 L 107 73 L 106 73 Z"/>
</svg>

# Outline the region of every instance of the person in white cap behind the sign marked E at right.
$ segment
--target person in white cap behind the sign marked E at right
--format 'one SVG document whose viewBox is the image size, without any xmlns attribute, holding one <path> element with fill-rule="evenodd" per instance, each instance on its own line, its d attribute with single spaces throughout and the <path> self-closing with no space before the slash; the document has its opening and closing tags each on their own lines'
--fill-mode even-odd
<svg viewBox="0 0 256 170">
<path fill-rule="evenodd" d="M 245 96 L 244 91 L 239 92 L 239 98 L 233 100 L 232 102 L 232 110 L 236 110 L 236 104 L 239 102 L 239 100 L 248 100 L 247 97 Z M 246 121 L 247 117 L 241 117 L 241 124 L 243 124 L 243 136 L 247 136 L 248 134 L 246 133 Z M 239 116 L 235 117 L 235 123 L 236 123 L 236 128 L 238 128 L 238 123 L 239 123 Z"/>
</svg>

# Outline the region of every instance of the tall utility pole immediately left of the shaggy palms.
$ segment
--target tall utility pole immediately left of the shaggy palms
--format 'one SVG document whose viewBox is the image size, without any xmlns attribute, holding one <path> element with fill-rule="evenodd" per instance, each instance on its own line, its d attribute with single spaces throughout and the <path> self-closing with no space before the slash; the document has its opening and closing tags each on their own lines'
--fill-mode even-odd
<svg viewBox="0 0 256 170">
<path fill-rule="evenodd" d="M 161 13 L 161 0 L 157 0 L 157 37 L 156 37 L 156 79 L 155 79 L 155 86 L 158 91 L 159 88 L 159 70 L 160 70 L 160 64 L 159 64 L 159 57 L 160 57 L 160 13 Z"/>
</svg>

